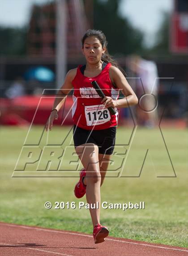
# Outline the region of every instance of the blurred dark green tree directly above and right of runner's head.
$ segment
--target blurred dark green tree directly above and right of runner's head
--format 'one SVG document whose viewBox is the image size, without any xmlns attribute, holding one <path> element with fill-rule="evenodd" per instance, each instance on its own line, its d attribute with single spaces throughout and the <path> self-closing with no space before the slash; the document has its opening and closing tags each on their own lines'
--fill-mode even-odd
<svg viewBox="0 0 188 256">
<path fill-rule="evenodd" d="M 120 16 L 119 4 L 118 0 L 94 0 L 94 28 L 107 36 L 110 54 L 139 54 L 143 50 L 143 33 Z"/>
</svg>

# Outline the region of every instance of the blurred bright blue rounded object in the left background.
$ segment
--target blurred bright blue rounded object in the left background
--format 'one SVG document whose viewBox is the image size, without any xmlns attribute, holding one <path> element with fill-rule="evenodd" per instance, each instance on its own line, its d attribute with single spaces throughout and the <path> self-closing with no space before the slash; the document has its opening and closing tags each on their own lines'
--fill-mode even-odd
<svg viewBox="0 0 188 256">
<path fill-rule="evenodd" d="M 41 82 L 52 82 L 55 74 L 51 69 L 43 66 L 30 67 L 24 74 L 24 78 L 28 80 L 38 80 Z"/>
</svg>

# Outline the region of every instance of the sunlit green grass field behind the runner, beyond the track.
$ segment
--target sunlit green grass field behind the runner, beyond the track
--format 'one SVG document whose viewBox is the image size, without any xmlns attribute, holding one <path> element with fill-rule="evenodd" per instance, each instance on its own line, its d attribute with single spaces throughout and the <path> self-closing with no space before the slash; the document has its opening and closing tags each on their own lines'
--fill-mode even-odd
<svg viewBox="0 0 188 256">
<path fill-rule="evenodd" d="M 54 127 L 50 140 L 61 141 L 69 128 Z M 35 126 L 28 143 L 35 141 L 42 129 Z M 27 128 L 1 127 L 0 221 L 92 234 L 89 210 L 80 210 L 78 207 L 74 210 L 53 207 L 47 210 L 44 207 L 46 201 L 76 202 L 77 205 L 79 201 L 86 202 L 85 197 L 80 200 L 74 197 L 73 189 L 78 178 L 11 177 L 27 131 Z M 116 144 L 128 144 L 131 133 L 129 128 L 118 127 Z M 110 235 L 114 237 L 187 247 L 187 131 L 162 129 L 162 133 L 175 173 L 159 129 L 138 129 L 131 146 L 124 146 L 127 158 L 122 175 L 129 177 L 106 178 L 101 188 L 101 201 L 145 201 L 145 209 L 102 209 L 101 224 L 107 225 Z M 41 145 L 44 145 L 43 139 Z M 147 149 L 149 151 L 140 177 L 130 177 L 139 176 Z M 118 146 L 115 148 L 119 153 L 120 150 Z M 115 155 L 112 159 L 115 161 L 114 167 L 117 167 L 123 158 Z M 65 160 L 64 165 L 69 168 L 68 159 Z M 36 165 L 30 165 L 29 168 L 34 171 Z M 113 164 L 110 168 L 113 169 Z M 25 175 L 26 171 L 23 173 Z M 177 177 L 169 177 L 175 174 Z"/>
</svg>

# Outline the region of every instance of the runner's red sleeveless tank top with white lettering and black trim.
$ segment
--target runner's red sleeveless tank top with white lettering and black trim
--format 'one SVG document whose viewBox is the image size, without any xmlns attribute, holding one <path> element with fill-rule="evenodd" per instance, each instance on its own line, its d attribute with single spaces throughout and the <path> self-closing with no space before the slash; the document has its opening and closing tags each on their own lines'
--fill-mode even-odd
<svg viewBox="0 0 188 256">
<path fill-rule="evenodd" d="M 106 96 L 118 99 L 120 91 L 114 88 L 109 76 L 111 63 L 104 64 L 106 65 L 103 65 L 100 74 L 94 77 L 84 76 L 84 66 L 79 65 L 76 76 L 72 81 L 74 88 L 73 122 L 85 130 L 101 130 L 117 126 L 118 111 L 115 115 L 111 115 L 109 110 L 101 103 L 101 97 L 91 84 L 92 81 L 97 81 Z"/>
</svg>

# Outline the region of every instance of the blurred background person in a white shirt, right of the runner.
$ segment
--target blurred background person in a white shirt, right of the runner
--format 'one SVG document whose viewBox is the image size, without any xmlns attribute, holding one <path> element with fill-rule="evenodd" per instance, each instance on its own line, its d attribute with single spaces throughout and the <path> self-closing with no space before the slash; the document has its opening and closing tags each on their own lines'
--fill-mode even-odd
<svg viewBox="0 0 188 256">
<path fill-rule="evenodd" d="M 156 107 L 158 104 L 158 70 L 154 61 L 133 55 L 129 58 L 129 68 L 135 74 L 135 90 L 139 98 L 137 122 L 139 125 L 154 127 L 158 124 Z"/>
</svg>

